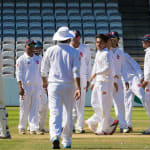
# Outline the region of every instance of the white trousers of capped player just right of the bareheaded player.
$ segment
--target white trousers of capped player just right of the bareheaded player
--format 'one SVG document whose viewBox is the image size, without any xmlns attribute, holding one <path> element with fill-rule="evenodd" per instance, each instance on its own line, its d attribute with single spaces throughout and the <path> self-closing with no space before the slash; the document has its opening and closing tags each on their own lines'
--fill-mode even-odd
<svg viewBox="0 0 150 150">
<path fill-rule="evenodd" d="M 120 128 L 127 128 L 127 123 L 125 121 L 125 104 L 124 104 L 124 89 L 122 80 L 117 80 L 118 92 L 115 88 L 113 89 L 113 103 L 116 116 L 119 120 Z"/>
</svg>

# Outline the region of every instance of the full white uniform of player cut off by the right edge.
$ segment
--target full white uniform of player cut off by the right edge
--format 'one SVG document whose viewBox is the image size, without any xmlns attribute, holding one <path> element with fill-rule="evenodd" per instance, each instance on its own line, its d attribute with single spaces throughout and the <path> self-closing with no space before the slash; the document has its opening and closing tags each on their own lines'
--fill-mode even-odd
<svg viewBox="0 0 150 150">
<path fill-rule="evenodd" d="M 148 113 L 150 120 L 150 47 L 145 49 L 145 52 L 146 54 L 144 59 L 144 80 L 148 82 L 148 85 L 145 87 L 145 109 Z"/>
</svg>

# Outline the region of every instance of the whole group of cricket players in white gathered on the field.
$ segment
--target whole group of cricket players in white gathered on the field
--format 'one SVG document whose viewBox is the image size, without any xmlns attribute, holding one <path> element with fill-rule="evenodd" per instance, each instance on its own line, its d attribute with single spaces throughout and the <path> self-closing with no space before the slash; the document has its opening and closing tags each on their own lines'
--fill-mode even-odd
<svg viewBox="0 0 150 150">
<path fill-rule="evenodd" d="M 119 34 L 96 36 L 97 53 L 91 67 L 90 49 L 80 43 L 79 31 L 60 27 L 53 36 L 56 45 L 41 52 L 40 41 L 27 40 L 25 53 L 17 59 L 16 78 L 20 95 L 19 134 L 44 134 L 50 111 L 49 133 L 53 149 L 71 148 L 72 132 L 85 133 L 84 124 L 96 135 L 130 133 L 136 95 L 150 118 L 150 35 L 144 36 L 144 75 L 139 64 L 118 47 Z M 92 91 L 93 116 L 84 120 L 85 96 Z M 110 111 L 114 105 L 117 120 Z M 1 108 L 0 108 L 1 111 Z M 5 131 L 6 132 L 6 131 Z M 8 132 L 8 131 L 7 131 Z M 143 131 L 150 134 L 150 128 Z M 10 137 L 1 132 L 1 137 Z"/>
</svg>

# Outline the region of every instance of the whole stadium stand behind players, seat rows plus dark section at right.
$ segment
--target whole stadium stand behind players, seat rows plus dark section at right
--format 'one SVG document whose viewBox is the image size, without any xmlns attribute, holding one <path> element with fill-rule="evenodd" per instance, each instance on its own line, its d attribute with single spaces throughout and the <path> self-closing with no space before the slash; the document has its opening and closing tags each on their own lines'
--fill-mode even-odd
<svg viewBox="0 0 150 150">
<path fill-rule="evenodd" d="M 23 54 L 27 38 L 42 41 L 45 51 L 54 44 L 52 36 L 62 25 L 81 32 L 82 42 L 91 49 L 92 62 L 96 53 L 95 35 L 114 30 L 120 34 L 122 47 L 124 40 L 127 52 L 143 56 L 139 39 L 148 30 L 148 21 L 143 19 L 143 15 L 149 18 L 147 3 L 147 0 L 1 0 L 3 74 L 15 77 L 16 59 Z M 137 60 L 142 63 L 141 58 Z"/>
</svg>

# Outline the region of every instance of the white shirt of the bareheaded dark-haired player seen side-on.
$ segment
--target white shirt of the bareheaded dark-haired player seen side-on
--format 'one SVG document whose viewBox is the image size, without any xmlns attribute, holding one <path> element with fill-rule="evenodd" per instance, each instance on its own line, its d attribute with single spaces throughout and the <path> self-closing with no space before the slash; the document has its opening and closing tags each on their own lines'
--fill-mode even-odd
<svg viewBox="0 0 150 150">
<path fill-rule="evenodd" d="M 96 54 L 93 69 L 96 72 L 96 82 L 113 81 L 111 56 L 106 48 Z"/>
</svg>

